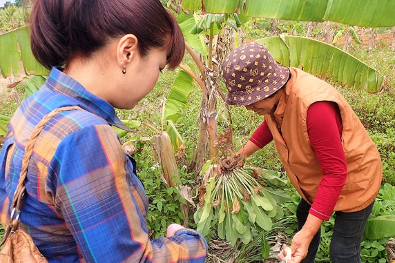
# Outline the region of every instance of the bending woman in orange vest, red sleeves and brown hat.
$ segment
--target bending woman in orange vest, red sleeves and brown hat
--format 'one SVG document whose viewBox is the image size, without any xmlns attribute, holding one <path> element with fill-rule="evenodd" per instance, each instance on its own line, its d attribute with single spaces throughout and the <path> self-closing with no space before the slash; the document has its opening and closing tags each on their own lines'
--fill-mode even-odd
<svg viewBox="0 0 395 263">
<path fill-rule="evenodd" d="M 273 140 L 301 196 L 287 262 L 314 262 L 320 226 L 334 211 L 331 262 L 360 262 L 360 242 L 383 171 L 354 110 L 336 88 L 298 68 L 279 66 L 258 43 L 233 50 L 222 77 L 228 104 L 264 116 L 238 154 L 249 157 Z M 278 257 L 285 254 L 283 249 Z"/>
</svg>

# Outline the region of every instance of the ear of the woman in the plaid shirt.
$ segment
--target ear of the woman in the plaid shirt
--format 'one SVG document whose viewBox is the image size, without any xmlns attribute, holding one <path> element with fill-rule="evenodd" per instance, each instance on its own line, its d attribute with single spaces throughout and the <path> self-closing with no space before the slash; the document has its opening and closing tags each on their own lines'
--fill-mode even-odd
<svg viewBox="0 0 395 263">
<path fill-rule="evenodd" d="M 120 66 L 124 66 L 132 61 L 133 57 L 139 54 L 137 37 L 127 34 L 121 37 L 117 46 L 117 60 Z"/>
</svg>

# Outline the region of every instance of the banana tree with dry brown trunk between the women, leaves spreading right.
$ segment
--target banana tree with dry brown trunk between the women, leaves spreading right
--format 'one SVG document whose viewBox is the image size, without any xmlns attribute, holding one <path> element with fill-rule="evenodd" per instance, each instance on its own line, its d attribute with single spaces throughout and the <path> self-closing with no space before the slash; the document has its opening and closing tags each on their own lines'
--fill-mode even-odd
<svg viewBox="0 0 395 263">
<path fill-rule="evenodd" d="M 238 32 L 251 17 L 286 19 L 291 21 L 334 21 L 352 26 L 394 26 L 391 8 L 394 1 L 313 1 L 289 2 L 269 0 L 171 0 L 168 7 L 179 12 L 187 49 L 198 65 L 202 88 L 202 108 L 198 117 L 200 139 L 197 144 L 196 171 L 207 159 L 218 157 L 216 119 L 217 99 L 222 97 L 219 66 L 224 56 L 240 45 Z M 363 15 L 360 15 L 363 14 Z M 377 15 L 380 14 L 380 15 Z M 353 32 L 350 30 L 350 32 Z M 385 79 L 374 68 L 347 52 L 314 39 L 276 36 L 258 39 L 273 57 L 284 66 L 302 67 L 319 77 L 329 77 L 355 89 L 376 92 Z M 307 48 L 308 47 L 308 48 Z M 198 59 L 196 59 L 198 58 Z M 195 76 L 194 79 L 197 79 Z"/>
</svg>

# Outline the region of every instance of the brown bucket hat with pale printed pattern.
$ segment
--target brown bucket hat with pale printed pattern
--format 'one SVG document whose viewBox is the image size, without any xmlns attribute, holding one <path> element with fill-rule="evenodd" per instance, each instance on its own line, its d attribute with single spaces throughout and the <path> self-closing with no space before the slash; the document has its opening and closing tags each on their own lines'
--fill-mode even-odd
<svg viewBox="0 0 395 263">
<path fill-rule="evenodd" d="M 251 42 L 231 51 L 222 64 L 227 104 L 246 106 L 265 99 L 287 83 L 289 69 L 280 66 L 269 51 Z"/>
</svg>

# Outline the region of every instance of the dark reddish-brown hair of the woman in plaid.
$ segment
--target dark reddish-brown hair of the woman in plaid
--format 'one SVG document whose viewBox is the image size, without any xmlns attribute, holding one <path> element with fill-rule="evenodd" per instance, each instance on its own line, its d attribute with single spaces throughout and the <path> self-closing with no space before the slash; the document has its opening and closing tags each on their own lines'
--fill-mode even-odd
<svg viewBox="0 0 395 263">
<path fill-rule="evenodd" d="M 71 57 L 90 57 L 108 41 L 126 34 L 138 39 L 144 57 L 150 48 L 169 47 L 168 68 L 184 56 L 184 37 L 159 0 L 36 0 L 30 14 L 30 41 L 46 68 Z"/>
</svg>

